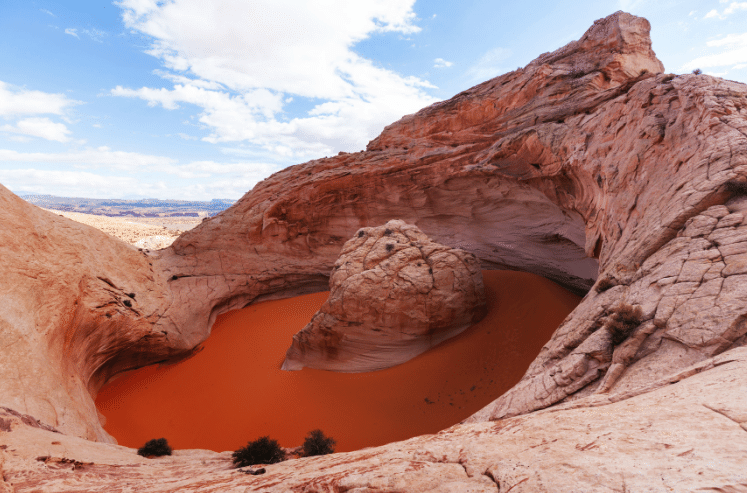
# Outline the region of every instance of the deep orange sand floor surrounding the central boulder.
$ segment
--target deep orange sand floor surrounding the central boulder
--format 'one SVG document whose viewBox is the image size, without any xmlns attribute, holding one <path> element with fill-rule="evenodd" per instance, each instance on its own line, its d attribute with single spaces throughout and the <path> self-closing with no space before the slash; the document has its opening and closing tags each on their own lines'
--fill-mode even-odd
<svg viewBox="0 0 747 493">
<path fill-rule="evenodd" d="M 223 314 L 201 352 L 110 382 L 96 405 L 105 429 L 129 447 L 165 437 L 179 449 L 236 450 L 263 435 L 294 447 L 321 428 L 337 451 L 349 451 L 435 433 L 516 384 L 580 301 L 532 274 L 484 271 L 483 278 L 485 319 L 394 368 L 280 370 L 324 292 Z"/>
</svg>

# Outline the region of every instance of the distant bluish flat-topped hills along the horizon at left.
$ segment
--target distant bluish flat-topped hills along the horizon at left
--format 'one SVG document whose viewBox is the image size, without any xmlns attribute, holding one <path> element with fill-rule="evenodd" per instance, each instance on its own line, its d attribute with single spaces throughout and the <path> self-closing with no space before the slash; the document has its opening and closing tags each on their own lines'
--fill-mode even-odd
<svg viewBox="0 0 747 493">
<path fill-rule="evenodd" d="M 209 202 L 192 200 L 120 200 L 56 197 L 54 195 L 22 195 L 27 202 L 45 209 L 82 212 L 99 216 L 131 217 L 207 217 L 227 209 L 234 200 L 213 199 Z"/>
</svg>

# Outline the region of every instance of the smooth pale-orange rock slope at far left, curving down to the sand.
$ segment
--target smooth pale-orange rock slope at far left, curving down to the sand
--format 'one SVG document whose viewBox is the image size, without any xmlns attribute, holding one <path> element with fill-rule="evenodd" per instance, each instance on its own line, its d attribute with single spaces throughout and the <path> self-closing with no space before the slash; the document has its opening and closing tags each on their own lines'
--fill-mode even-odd
<svg viewBox="0 0 747 493">
<path fill-rule="evenodd" d="M 0 405 L 113 441 L 91 400 L 111 375 L 188 354 L 154 324 L 171 302 L 153 258 L 0 185 Z"/>
</svg>

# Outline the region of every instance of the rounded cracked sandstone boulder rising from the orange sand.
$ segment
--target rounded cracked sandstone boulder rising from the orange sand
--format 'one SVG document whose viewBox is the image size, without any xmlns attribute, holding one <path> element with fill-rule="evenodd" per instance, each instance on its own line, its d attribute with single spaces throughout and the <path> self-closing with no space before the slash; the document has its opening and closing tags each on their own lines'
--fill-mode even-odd
<svg viewBox="0 0 747 493">
<path fill-rule="evenodd" d="M 399 220 L 358 230 L 342 247 L 329 290 L 293 336 L 283 370 L 389 368 L 461 333 L 486 310 L 477 258 Z"/>
</svg>

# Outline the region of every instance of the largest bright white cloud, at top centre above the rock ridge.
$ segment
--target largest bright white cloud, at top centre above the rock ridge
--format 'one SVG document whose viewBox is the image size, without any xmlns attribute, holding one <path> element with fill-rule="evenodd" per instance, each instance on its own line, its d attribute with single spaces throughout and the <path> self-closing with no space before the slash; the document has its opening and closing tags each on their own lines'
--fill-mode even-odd
<svg viewBox="0 0 747 493">
<path fill-rule="evenodd" d="M 433 87 L 375 65 L 353 51 L 374 33 L 412 34 L 414 0 L 123 0 L 128 28 L 152 37 L 148 53 L 171 72 L 172 88 L 118 86 L 175 109 L 194 104 L 208 142 L 249 141 L 279 155 L 360 150 L 382 128 L 435 102 Z M 290 121 L 289 98 L 315 106 Z"/>
</svg>

